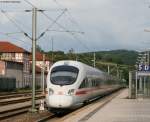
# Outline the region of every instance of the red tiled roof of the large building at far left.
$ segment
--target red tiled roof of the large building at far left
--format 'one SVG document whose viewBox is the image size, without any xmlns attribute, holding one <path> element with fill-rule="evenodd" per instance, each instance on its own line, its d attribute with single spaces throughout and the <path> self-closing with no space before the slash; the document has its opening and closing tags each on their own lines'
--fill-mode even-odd
<svg viewBox="0 0 150 122">
<path fill-rule="evenodd" d="M 27 50 L 18 47 L 7 41 L 0 41 L 0 52 L 1 53 L 29 53 Z"/>
</svg>

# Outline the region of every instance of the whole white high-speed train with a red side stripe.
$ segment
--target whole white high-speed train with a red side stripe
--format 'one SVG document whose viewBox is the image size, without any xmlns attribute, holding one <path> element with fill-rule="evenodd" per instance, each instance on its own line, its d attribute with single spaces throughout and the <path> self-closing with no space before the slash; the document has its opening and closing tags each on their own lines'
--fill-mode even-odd
<svg viewBox="0 0 150 122">
<path fill-rule="evenodd" d="M 47 76 L 46 103 L 53 112 L 73 109 L 119 89 L 120 81 L 78 61 L 56 62 Z"/>
</svg>

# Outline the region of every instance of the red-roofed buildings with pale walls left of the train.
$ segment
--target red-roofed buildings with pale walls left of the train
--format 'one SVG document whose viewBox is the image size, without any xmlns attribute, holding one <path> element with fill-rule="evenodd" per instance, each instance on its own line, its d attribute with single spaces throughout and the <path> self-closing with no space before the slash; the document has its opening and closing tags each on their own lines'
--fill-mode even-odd
<svg viewBox="0 0 150 122">
<path fill-rule="evenodd" d="M 16 79 L 16 88 L 31 87 L 32 83 L 32 59 L 31 53 L 15 44 L 0 41 L 0 77 Z M 45 77 L 51 66 L 51 61 L 45 58 Z M 36 53 L 36 84 L 42 85 L 43 54 Z M 45 64 L 45 63 L 44 63 Z"/>
</svg>

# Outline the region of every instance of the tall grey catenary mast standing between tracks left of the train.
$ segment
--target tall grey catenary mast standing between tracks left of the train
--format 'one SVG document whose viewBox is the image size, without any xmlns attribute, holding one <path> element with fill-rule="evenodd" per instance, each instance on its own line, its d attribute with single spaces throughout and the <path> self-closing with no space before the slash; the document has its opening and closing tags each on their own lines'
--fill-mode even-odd
<svg viewBox="0 0 150 122">
<path fill-rule="evenodd" d="M 32 9 L 32 108 L 31 112 L 36 112 L 35 108 L 35 51 L 36 51 L 36 23 L 37 22 L 37 8 Z"/>
</svg>

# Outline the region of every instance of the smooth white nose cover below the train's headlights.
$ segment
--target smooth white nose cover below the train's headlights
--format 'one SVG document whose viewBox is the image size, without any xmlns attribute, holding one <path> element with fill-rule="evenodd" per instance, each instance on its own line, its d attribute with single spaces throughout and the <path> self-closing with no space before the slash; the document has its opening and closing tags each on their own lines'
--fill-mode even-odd
<svg viewBox="0 0 150 122">
<path fill-rule="evenodd" d="M 47 101 L 49 107 L 53 108 L 68 108 L 73 103 L 73 98 L 71 96 L 65 95 L 51 95 Z"/>
</svg>

